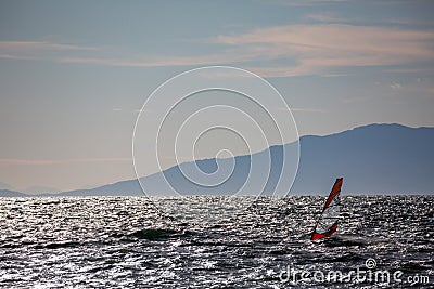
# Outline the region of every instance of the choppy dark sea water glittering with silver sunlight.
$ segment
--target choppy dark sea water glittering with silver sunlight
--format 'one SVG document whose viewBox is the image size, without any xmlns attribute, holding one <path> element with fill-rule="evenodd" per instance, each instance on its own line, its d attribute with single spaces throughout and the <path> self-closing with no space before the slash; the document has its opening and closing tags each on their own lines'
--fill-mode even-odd
<svg viewBox="0 0 434 289">
<path fill-rule="evenodd" d="M 320 241 L 323 197 L 221 199 L 2 198 L 0 287 L 434 287 L 434 196 L 343 196 Z"/>
</svg>

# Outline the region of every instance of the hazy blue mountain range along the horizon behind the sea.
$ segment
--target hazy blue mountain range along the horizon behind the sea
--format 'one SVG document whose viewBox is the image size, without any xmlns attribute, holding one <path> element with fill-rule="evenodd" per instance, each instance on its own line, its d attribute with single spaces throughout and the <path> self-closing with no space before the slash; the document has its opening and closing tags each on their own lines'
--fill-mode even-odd
<svg viewBox="0 0 434 289">
<path fill-rule="evenodd" d="M 434 128 L 408 128 L 400 124 L 369 124 L 327 136 L 302 136 L 298 172 L 290 194 L 328 194 L 334 179 L 344 176 L 347 194 L 433 194 Z M 296 144 L 285 144 L 294 146 Z M 217 187 L 204 188 L 183 178 L 175 166 L 141 179 L 149 192 L 166 195 L 162 182 L 170 183 L 181 194 L 229 194 L 240 189 L 255 158 L 270 154 L 271 170 L 264 194 L 276 187 L 282 167 L 282 146 L 272 146 L 252 156 L 235 157 L 231 178 Z M 220 159 L 219 163 L 232 161 Z M 197 165 L 205 172 L 216 169 L 215 159 L 181 163 Z M 255 178 L 254 178 L 255 179 Z M 259 186 L 259 185 L 258 185 Z M 282 192 L 281 192 L 282 193 Z M 286 192 L 283 192 L 286 193 Z M 52 194 L 43 194 L 47 196 Z M 55 196 L 143 196 L 138 180 L 128 180 L 91 189 L 77 189 Z M 25 196 L 9 189 L 0 196 Z"/>
</svg>

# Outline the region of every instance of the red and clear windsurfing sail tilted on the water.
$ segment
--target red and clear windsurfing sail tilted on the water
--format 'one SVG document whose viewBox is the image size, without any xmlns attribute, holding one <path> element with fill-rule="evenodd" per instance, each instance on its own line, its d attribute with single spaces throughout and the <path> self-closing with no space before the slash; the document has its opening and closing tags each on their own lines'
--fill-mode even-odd
<svg viewBox="0 0 434 289">
<path fill-rule="evenodd" d="M 331 236 L 337 229 L 337 221 L 340 214 L 340 194 L 343 183 L 343 178 L 336 179 L 329 197 L 326 200 L 321 215 L 315 226 L 311 239 L 322 239 Z"/>
</svg>

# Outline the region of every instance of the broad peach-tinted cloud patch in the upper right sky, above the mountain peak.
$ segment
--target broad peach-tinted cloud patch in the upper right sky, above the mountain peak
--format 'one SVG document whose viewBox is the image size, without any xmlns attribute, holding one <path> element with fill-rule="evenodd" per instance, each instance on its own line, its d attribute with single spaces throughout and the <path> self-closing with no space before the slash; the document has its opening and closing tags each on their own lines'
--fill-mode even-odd
<svg viewBox="0 0 434 289">
<path fill-rule="evenodd" d="M 276 76 L 321 74 L 332 67 L 401 65 L 434 60 L 433 31 L 391 27 L 290 25 L 219 36 L 210 41 L 238 48 L 244 55 L 255 55 L 256 60 L 291 58 L 297 63 L 293 67 L 272 67 Z"/>
</svg>

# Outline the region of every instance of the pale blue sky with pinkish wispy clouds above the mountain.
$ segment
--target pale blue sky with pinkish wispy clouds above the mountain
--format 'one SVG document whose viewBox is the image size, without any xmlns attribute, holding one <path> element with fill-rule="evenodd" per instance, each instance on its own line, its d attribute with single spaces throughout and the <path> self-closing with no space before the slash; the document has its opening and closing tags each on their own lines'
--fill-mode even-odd
<svg viewBox="0 0 434 289">
<path fill-rule="evenodd" d="M 433 12 L 434 2 L 418 0 L 2 0 L 0 187 L 135 179 L 143 103 L 164 81 L 203 66 L 265 78 L 299 135 L 367 123 L 434 127 Z"/>
</svg>

